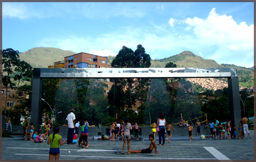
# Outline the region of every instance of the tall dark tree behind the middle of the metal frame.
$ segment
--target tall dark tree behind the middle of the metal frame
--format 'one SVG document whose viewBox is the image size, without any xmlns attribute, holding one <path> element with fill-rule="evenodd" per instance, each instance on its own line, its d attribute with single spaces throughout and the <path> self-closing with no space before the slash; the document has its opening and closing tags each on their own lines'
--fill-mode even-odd
<svg viewBox="0 0 256 162">
<path fill-rule="evenodd" d="M 137 45 L 137 49 L 135 51 L 131 50 L 131 48 L 123 46 L 111 63 L 111 67 L 115 68 L 145 68 L 150 67 L 150 65 L 150 56 L 145 53 L 145 48 L 142 45 Z M 111 81 L 113 81 L 113 79 Z M 112 92 L 115 92 L 116 94 L 123 93 L 124 98 L 122 101 L 125 103 L 125 105 L 119 104 L 119 106 L 122 105 L 128 109 L 132 109 L 132 107 L 135 105 L 135 99 L 138 98 L 138 95 L 141 97 L 142 101 L 143 98 L 145 98 L 145 95 L 142 95 L 142 93 L 147 89 L 146 87 L 148 86 L 148 83 L 149 79 L 115 79 L 114 85 L 111 87 L 111 89 L 113 87 L 117 87 L 117 90 L 120 90 L 121 92 L 111 90 L 109 95 L 113 96 L 114 94 L 112 94 Z M 111 100 L 109 101 L 111 102 Z M 113 105 L 115 105 L 113 107 L 113 109 L 115 109 L 117 106 L 116 100 Z M 125 107 L 120 109 L 124 109 Z"/>
</svg>

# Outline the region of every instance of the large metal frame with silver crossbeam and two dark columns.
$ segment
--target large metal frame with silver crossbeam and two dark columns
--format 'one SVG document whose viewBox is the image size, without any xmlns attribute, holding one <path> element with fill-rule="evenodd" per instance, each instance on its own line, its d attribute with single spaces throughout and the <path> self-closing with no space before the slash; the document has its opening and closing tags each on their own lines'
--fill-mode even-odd
<svg viewBox="0 0 256 162">
<path fill-rule="evenodd" d="M 241 120 L 239 81 L 236 67 L 224 68 L 34 68 L 31 121 L 41 124 L 43 78 L 227 78 L 230 125 Z"/>
</svg>

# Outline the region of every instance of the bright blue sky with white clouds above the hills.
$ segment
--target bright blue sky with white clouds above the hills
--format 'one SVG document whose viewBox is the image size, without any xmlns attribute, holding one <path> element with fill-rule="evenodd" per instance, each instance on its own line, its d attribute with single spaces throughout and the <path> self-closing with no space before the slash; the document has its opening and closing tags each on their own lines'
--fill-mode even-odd
<svg viewBox="0 0 256 162">
<path fill-rule="evenodd" d="M 3 2 L 2 47 L 116 56 L 122 46 L 141 44 L 151 59 L 189 50 L 253 67 L 253 27 L 253 2 Z"/>
</svg>

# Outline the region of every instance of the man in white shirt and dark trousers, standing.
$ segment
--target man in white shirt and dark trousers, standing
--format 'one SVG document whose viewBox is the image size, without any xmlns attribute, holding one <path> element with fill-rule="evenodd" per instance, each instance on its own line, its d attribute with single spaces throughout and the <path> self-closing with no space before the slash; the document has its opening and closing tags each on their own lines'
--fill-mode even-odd
<svg viewBox="0 0 256 162">
<path fill-rule="evenodd" d="M 67 144 L 72 144 L 73 137 L 74 137 L 74 131 L 75 131 L 75 124 L 76 124 L 76 116 L 74 114 L 75 109 L 70 110 L 70 114 L 67 115 L 67 126 L 68 126 L 68 131 L 67 131 Z"/>
</svg>

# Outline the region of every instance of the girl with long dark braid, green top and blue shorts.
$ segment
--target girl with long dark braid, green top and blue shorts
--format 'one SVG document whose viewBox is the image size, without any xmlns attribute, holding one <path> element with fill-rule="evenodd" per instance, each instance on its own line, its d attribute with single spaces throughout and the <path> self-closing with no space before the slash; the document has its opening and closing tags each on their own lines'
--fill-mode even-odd
<svg viewBox="0 0 256 162">
<path fill-rule="evenodd" d="M 47 142 L 47 144 L 50 145 L 50 151 L 49 151 L 49 160 L 53 160 L 53 156 L 55 156 L 55 160 L 58 160 L 60 157 L 60 148 L 59 145 L 63 145 L 64 143 L 66 143 L 66 141 L 64 140 L 62 142 L 61 140 L 61 135 L 59 135 L 60 128 L 58 126 L 54 126 L 53 127 L 53 134 L 49 135 L 49 140 Z"/>
</svg>

